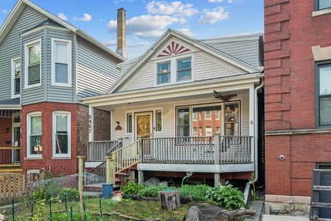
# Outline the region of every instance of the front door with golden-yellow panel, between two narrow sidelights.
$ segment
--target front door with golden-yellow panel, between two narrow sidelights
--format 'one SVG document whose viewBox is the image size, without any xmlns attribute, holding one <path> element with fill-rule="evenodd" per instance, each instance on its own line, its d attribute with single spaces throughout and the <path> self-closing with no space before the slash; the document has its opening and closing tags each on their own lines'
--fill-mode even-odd
<svg viewBox="0 0 331 221">
<path fill-rule="evenodd" d="M 152 112 L 136 114 L 136 140 L 152 137 Z"/>
</svg>

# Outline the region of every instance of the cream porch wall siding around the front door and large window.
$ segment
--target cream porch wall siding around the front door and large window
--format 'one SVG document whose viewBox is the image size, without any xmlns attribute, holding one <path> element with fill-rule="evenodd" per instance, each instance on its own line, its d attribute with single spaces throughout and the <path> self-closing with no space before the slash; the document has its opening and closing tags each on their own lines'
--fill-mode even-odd
<svg viewBox="0 0 331 221">
<path fill-rule="evenodd" d="M 238 95 L 235 99 L 241 99 L 241 117 L 242 117 L 242 133 L 241 135 L 249 135 L 249 96 L 248 95 Z M 210 103 L 215 102 L 215 99 L 210 97 L 208 99 L 192 99 L 185 102 L 169 102 L 169 103 L 160 103 L 157 105 L 149 106 L 134 106 L 130 108 L 115 108 L 112 112 L 112 139 L 119 139 L 127 137 L 128 139 L 123 140 L 123 143 L 130 144 L 133 142 L 132 134 L 126 134 L 126 111 L 148 111 L 152 109 L 163 109 L 163 131 L 154 132 L 154 137 L 174 137 L 175 136 L 175 106 L 186 106 L 191 104 L 199 103 Z M 155 117 L 155 115 L 153 115 Z M 114 128 L 117 126 L 116 122 L 120 122 L 122 127 L 121 131 L 115 131 Z"/>
</svg>

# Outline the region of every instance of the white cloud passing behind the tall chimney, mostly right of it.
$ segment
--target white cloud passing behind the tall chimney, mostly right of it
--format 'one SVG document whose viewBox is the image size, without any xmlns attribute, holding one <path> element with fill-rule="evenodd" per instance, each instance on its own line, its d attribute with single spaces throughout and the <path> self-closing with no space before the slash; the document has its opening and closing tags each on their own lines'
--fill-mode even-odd
<svg viewBox="0 0 331 221">
<path fill-rule="evenodd" d="M 183 24 L 186 22 L 186 19 L 170 17 L 168 15 L 141 15 L 128 19 L 126 21 L 126 30 L 128 35 L 136 35 L 140 39 L 155 39 L 163 35 L 165 28 L 173 23 Z M 117 30 L 117 21 L 109 21 L 107 29 L 115 32 Z"/>
</svg>

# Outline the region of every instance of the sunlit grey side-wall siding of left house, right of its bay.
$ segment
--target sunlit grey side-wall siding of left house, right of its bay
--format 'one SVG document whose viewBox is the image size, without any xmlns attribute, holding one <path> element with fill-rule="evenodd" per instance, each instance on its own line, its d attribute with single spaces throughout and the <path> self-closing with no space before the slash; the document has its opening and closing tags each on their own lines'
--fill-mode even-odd
<svg viewBox="0 0 331 221">
<path fill-rule="evenodd" d="M 88 97 L 106 93 L 121 75 L 116 64 L 83 39 L 77 43 L 77 95 Z"/>
</svg>

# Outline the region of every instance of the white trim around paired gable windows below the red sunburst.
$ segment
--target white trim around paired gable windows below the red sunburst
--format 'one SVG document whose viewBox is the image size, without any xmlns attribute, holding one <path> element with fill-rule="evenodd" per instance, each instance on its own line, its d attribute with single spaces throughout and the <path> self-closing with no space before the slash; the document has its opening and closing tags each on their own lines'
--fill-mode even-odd
<svg viewBox="0 0 331 221">
<path fill-rule="evenodd" d="M 191 79 L 187 81 L 177 81 L 177 61 L 183 59 L 191 59 Z M 157 66 L 170 61 L 170 83 L 157 84 Z M 194 53 L 185 55 L 174 55 L 164 59 L 158 59 L 154 64 L 154 86 L 167 86 L 170 84 L 183 84 L 194 81 Z"/>
</svg>

